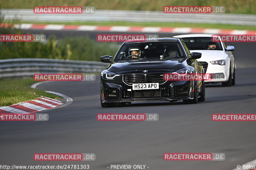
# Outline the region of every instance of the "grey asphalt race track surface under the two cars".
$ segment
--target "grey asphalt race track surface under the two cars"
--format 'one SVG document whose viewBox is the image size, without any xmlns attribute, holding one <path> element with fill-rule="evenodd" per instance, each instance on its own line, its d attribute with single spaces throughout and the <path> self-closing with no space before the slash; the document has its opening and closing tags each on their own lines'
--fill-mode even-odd
<svg viewBox="0 0 256 170">
<path fill-rule="evenodd" d="M 38 32 L 30 30 L 30 33 Z M 53 34 L 44 32 L 47 36 L 50 33 Z M 59 32 L 57 36 L 62 34 Z M 90 35 L 95 37 L 96 34 L 98 32 Z M 256 56 L 253 52 L 256 45 L 227 44 L 236 47 L 233 54 L 240 68 L 236 69 L 236 85 L 206 85 L 206 100 L 197 104 L 148 102 L 101 108 L 99 76 L 92 82 L 38 85 L 39 89 L 71 97 L 73 103 L 42 112 L 49 114 L 46 122 L 0 122 L 0 162 L 10 165 L 89 164 L 92 170 L 107 170 L 111 164 L 146 165 L 150 170 L 232 170 L 238 164 L 256 159 L 255 122 L 211 121 L 212 114 L 255 114 L 256 110 Z M 96 120 L 98 113 L 158 113 L 159 120 L 100 122 Z M 166 152 L 222 152 L 226 159 L 164 161 L 162 155 Z M 96 160 L 34 161 L 34 153 L 95 153 Z"/>
</svg>

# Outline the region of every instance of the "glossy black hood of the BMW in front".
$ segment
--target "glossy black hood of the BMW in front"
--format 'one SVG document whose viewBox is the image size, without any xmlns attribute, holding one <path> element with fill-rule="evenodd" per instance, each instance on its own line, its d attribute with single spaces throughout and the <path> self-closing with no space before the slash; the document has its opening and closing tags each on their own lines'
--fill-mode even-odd
<svg viewBox="0 0 256 170">
<path fill-rule="evenodd" d="M 108 70 L 121 73 L 125 71 L 138 71 L 138 70 L 179 70 L 186 67 L 187 60 L 183 62 L 173 61 L 173 60 L 165 60 L 165 61 L 141 61 L 134 62 L 128 61 L 124 63 L 111 63 L 108 66 Z"/>
</svg>

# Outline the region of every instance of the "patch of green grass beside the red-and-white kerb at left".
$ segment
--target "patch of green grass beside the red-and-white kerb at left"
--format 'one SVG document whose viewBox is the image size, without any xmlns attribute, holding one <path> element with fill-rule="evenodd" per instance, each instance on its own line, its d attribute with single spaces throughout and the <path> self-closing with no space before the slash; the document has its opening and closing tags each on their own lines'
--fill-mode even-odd
<svg viewBox="0 0 256 170">
<path fill-rule="evenodd" d="M 44 92 L 43 90 L 30 88 L 36 83 L 32 78 L 0 79 L 0 107 L 10 106 L 22 101 L 36 99 L 38 96 L 59 99 L 59 96 Z"/>
</svg>

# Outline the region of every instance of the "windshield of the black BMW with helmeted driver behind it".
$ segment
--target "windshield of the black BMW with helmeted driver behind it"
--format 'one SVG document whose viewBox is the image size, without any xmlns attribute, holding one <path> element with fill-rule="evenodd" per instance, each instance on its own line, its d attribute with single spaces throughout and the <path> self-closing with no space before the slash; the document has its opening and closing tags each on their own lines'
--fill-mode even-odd
<svg viewBox="0 0 256 170">
<path fill-rule="evenodd" d="M 178 42 L 141 42 L 124 45 L 114 61 L 183 60 L 185 57 Z"/>
</svg>

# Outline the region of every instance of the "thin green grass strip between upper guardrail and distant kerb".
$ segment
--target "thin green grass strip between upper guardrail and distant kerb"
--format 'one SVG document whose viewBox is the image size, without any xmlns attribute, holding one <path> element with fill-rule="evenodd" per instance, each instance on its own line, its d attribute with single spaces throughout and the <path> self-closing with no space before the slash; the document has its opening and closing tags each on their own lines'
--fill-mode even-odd
<svg viewBox="0 0 256 170">
<path fill-rule="evenodd" d="M 52 22 L 35 22 L 35 21 L 22 21 L 20 23 L 31 24 L 53 24 Z M 256 30 L 256 26 L 242 26 L 242 25 L 229 25 L 229 24 L 208 24 L 208 23 L 179 23 L 179 22 L 54 22 L 54 24 L 64 25 L 92 25 L 92 26 L 156 26 L 156 27 L 191 27 L 191 28 L 213 28 L 213 29 L 231 29 L 231 30 Z"/>
</svg>

